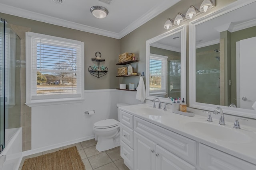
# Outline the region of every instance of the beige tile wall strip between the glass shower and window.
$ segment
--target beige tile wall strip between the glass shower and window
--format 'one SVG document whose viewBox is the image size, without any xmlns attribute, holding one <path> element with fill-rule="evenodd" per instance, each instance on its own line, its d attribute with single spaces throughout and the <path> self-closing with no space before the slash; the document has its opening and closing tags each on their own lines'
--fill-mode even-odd
<svg viewBox="0 0 256 170">
<path fill-rule="evenodd" d="M 20 48 L 21 48 L 21 61 L 26 60 L 25 53 L 25 33 L 31 31 L 31 28 L 22 27 L 17 25 L 10 24 L 12 29 L 16 32 L 16 34 L 20 37 Z M 31 107 L 25 105 L 26 102 L 26 67 L 25 63 L 21 63 L 20 70 L 20 126 L 22 127 L 22 150 L 30 150 L 31 149 Z"/>
</svg>

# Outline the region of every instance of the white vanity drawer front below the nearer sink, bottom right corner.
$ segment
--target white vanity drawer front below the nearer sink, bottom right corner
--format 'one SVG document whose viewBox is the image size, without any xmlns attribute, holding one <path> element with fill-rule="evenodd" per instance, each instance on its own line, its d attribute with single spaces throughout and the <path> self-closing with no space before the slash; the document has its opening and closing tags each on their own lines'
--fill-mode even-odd
<svg viewBox="0 0 256 170">
<path fill-rule="evenodd" d="M 213 149 L 199 145 L 199 164 L 202 170 L 256 170 L 256 165 Z"/>
</svg>

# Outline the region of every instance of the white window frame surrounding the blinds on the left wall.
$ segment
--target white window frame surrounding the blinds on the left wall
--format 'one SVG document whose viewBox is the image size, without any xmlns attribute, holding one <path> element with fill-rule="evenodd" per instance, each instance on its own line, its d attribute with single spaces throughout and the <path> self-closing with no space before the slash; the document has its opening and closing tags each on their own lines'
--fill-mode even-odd
<svg viewBox="0 0 256 170">
<path fill-rule="evenodd" d="M 77 79 L 80 80 L 80 89 L 77 89 L 76 94 L 51 94 L 40 96 L 32 96 L 32 38 L 42 38 L 49 39 L 52 41 L 60 41 L 65 43 L 72 43 L 74 45 L 80 46 L 80 73 Z M 77 86 L 78 88 L 78 86 Z M 45 106 L 45 105 L 53 105 L 53 104 L 68 104 L 68 103 L 76 103 L 84 100 L 84 43 L 77 40 L 66 39 L 62 37 L 55 37 L 51 35 L 44 35 L 40 33 L 32 33 L 26 32 L 26 105 L 27 106 Z"/>
</svg>

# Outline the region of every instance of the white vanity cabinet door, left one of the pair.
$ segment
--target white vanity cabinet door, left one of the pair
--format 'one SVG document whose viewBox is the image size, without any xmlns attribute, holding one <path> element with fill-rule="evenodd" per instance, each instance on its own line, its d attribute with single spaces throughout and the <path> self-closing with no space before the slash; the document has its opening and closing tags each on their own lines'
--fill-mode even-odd
<svg viewBox="0 0 256 170">
<path fill-rule="evenodd" d="M 155 150 L 155 143 L 134 132 L 134 170 L 155 170 Z"/>
</svg>

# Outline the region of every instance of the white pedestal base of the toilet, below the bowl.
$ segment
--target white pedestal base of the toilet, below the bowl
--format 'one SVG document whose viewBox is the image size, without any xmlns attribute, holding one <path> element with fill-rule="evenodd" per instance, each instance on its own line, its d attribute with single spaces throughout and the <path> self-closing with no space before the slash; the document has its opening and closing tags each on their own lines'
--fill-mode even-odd
<svg viewBox="0 0 256 170">
<path fill-rule="evenodd" d="M 104 150 L 112 149 L 120 146 L 120 136 L 117 138 L 108 138 L 98 136 L 96 150 L 102 152 Z"/>
</svg>

